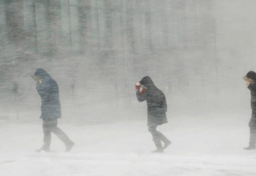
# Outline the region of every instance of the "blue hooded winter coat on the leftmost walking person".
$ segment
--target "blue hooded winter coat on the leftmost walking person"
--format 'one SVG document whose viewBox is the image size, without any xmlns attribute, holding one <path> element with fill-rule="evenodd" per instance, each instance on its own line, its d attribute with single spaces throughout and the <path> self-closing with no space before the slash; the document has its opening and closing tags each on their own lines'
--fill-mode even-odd
<svg viewBox="0 0 256 176">
<path fill-rule="evenodd" d="M 55 80 L 43 69 L 37 69 L 35 76 L 43 79 L 36 83 L 36 90 L 41 96 L 41 117 L 43 120 L 59 119 L 61 108 L 59 101 L 59 86 Z"/>
</svg>

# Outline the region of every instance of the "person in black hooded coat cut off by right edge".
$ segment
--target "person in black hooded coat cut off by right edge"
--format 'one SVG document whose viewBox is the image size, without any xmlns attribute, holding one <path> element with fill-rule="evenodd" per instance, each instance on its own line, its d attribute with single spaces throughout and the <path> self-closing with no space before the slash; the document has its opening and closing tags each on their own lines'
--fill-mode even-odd
<svg viewBox="0 0 256 176">
<path fill-rule="evenodd" d="M 250 142 L 249 146 L 244 150 L 255 150 L 256 149 L 256 73 L 250 71 L 246 76 L 243 77 L 247 82 L 247 88 L 251 91 L 251 120 L 249 122 L 250 127 Z"/>
</svg>

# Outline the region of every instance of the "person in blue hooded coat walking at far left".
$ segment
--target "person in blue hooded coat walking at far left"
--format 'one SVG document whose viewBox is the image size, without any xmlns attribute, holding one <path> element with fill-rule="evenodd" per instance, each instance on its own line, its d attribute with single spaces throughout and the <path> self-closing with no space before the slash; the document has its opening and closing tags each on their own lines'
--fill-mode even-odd
<svg viewBox="0 0 256 176">
<path fill-rule="evenodd" d="M 58 128 L 58 119 L 61 118 L 59 101 L 59 86 L 55 80 L 43 69 L 37 69 L 32 78 L 36 80 L 36 90 L 41 96 L 41 119 L 43 120 L 43 143 L 37 152 L 50 151 L 51 132 L 56 134 L 66 145 L 66 151 L 70 151 L 75 145 L 66 134 Z"/>
</svg>

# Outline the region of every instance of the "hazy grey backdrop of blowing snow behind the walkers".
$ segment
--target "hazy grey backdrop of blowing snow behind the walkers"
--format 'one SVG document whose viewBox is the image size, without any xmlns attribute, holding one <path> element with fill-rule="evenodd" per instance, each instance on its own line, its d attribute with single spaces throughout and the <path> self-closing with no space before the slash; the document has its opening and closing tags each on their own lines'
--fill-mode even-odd
<svg viewBox="0 0 256 176">
<path fill-rule="evenodd" d="M 0 111 L 38 120 L 31 75 L 59 84 L 63 119 L 146 121 L 134 84 L 150 76 L 167 117 L 250 114 L 256 1 L 2 0 Z M 146 122 L 145 122 L 146 124 Z"/>
</svg>

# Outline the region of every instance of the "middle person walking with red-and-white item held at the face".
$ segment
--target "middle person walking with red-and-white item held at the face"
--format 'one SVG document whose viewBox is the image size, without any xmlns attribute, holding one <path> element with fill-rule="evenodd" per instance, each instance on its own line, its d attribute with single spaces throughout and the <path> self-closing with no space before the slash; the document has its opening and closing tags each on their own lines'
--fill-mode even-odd
<svg viewBox="0 0 256 176">
<path fill-rule="evenodd" d="M 140 87 L 143 87 L 142 92 L 140 92 Z M 161 90 L 157 89 L 149 76 L 143 77 L 139 83 L 136 83 L 136 96 L 139 102 L 147 101 L 147 126 L 157 148 L 152 153 L 163 153 L 171 141 L 156 128 L 161 124 L 168 123 L 166 97 Z M 164 147 L 161 141 L 163 141 Z"/>
</svg>

